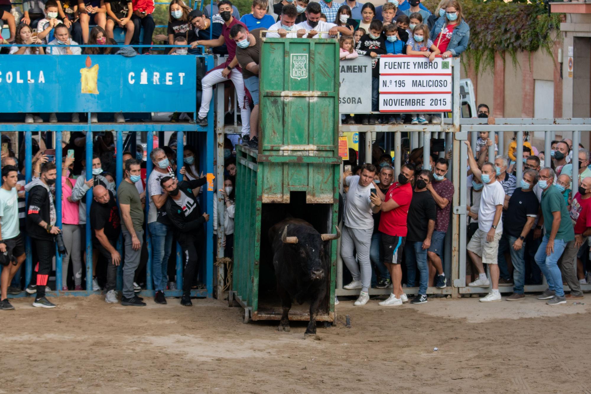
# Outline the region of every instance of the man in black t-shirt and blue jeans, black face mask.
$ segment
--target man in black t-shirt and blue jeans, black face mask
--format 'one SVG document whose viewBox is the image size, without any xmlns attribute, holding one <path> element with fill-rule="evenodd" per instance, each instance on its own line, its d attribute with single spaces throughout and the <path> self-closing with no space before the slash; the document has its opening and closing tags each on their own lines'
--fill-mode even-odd
<svg viewBox="0 0 591 394">
<path fill-rule="evenodd" d="M 427 285 L 429 281 L 427 250 L 431 245 L 431 236 L 433 236 L 437 219 L 435 200 L 431 193 L 428 193 L 430 183 L 431 171 L 421 171 L 414 185 L 413 200 L 408 208 L 408 233 L 404 244 L 408 287 L 415 286 L 417 268 L 419 272 L 418 294 L 411 301 L 411 304 L 424 304 L 427 302 Z"/>
</svg>

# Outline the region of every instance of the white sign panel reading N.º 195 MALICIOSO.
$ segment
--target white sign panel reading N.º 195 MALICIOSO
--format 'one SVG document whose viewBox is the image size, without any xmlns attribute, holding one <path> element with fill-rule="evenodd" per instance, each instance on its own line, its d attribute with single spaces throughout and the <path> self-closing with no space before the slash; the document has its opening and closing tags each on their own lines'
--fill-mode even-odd
<svg viewBox="0 0 591 394">
<path fill-rule="evenodd" d="M 379 93 L 452 93 L 451 75 L 381 75 Z"/>
</svg>

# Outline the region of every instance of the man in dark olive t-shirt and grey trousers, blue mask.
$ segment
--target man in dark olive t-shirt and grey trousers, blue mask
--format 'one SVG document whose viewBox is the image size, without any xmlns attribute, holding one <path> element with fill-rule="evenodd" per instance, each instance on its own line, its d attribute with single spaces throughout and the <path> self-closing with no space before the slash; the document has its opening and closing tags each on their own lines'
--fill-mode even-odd
<svg viewBox="0 0 591 394">
<path fill-rule="evenodd" d="M 139 161 L 128 159 L 125 161 L 124 180 L 119 184 L 117 197 L 119 209 L 124 226 L 121 231 L 125 240 L 125 263 L 123 266 L 123 297 L 121 305 L 133 307 L 145 307 L 134 293 L 134 274 L 139 265 L 139 257 L 142 249 L 142 236 L 144 235 L 144 211 L 142 199 L 139 197 L 135 183 L 139 181 Z M 145 197 L 144 197 L 145 198 Z"/>
</svg>

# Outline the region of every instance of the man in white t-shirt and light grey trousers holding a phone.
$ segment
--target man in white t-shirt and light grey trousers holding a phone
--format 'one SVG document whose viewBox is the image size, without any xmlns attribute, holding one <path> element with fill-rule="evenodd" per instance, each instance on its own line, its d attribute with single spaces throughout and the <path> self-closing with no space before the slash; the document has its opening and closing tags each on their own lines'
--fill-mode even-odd
<svg viewBox="0 0 591 394">
<path fill-rule="evenodd" d="M 361 175 L 352 175 L 350 171 L 345 172 L 345 184 L 349 186 L 349 191 L 345 200 L 343 215 L 345 226 L 343 226 L 340 241 L 340 255 L 353 276 L 353 281 L 343 287 L 348 290 L 361 289 L 355 305 L 365 305 L 369 300 L 369 285 L 371 285 L 369 246 L 374 232 L 372 213 L 379 211 L 379 206 L 375 206 L 369 200 L 375 172 L 375 166 L 369 163 L 363 164 Z M 357 252 L 359 265 L 355 261 L 353 250 Z"/>
</svg>

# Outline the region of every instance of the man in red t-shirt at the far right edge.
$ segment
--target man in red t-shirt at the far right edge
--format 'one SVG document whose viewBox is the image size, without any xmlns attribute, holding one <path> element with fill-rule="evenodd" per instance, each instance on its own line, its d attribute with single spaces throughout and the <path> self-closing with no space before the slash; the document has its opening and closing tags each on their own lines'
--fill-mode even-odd
<svg viewBox="0 0 591 394">
<path fill-rule="evenodd" d="M 574 240 L 566 244 L 564 253 L 558 261 L 562 278 L 570 287 L 570 299 L 583 298 L 579 279 L 574 271 L 574 258 L 580 259 L 584 253 L 587 237 L 591 235 L 591 177 L 583 178 L 579 191 L 574 194 L 570 206 L 570 219 L 574 226 Z"/>
</svg>

